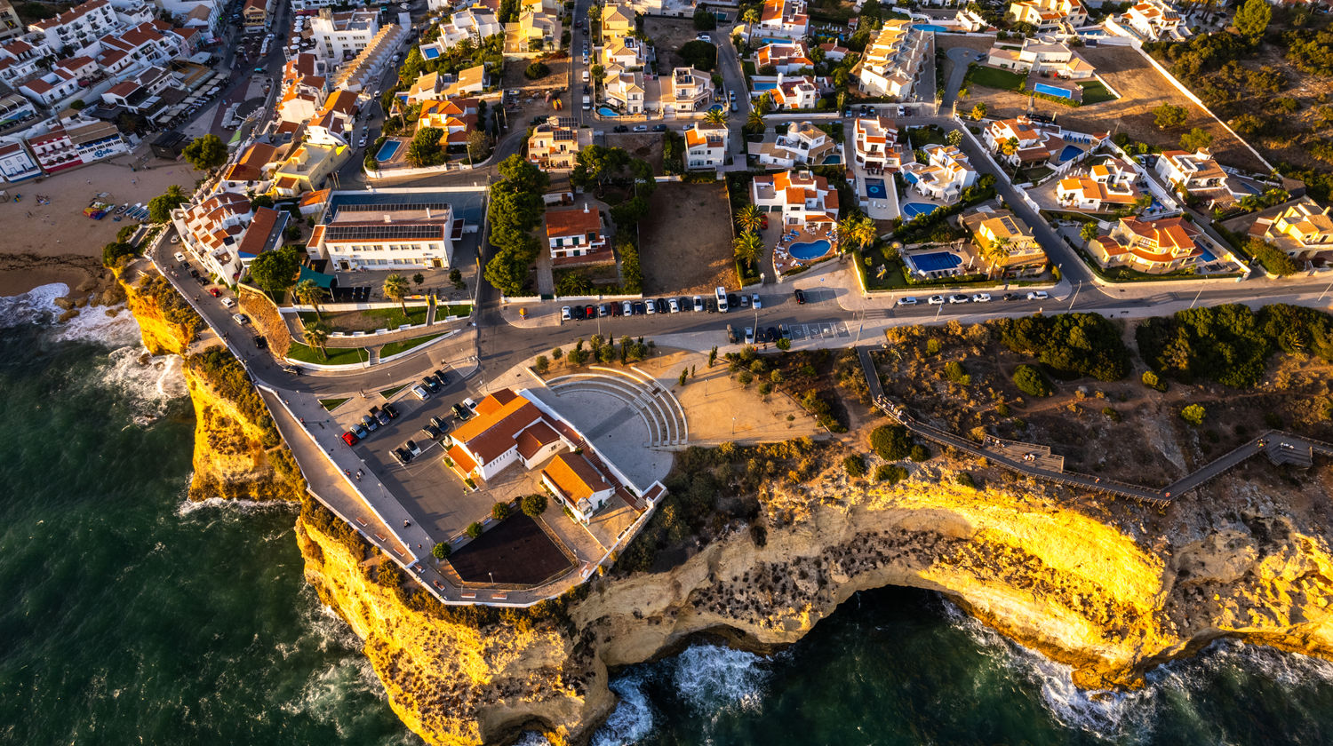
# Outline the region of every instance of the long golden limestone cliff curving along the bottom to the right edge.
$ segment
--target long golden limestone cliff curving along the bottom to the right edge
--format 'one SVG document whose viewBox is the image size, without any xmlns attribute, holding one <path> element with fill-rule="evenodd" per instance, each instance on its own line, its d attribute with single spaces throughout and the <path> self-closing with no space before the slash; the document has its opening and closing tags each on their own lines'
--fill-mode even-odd
<svg viewBox="0 0 1333 746">
<path fill-rule="evenodd" d="M 427 741 L 532 726 L 580 739 L 609 711 L 608 666 L 701 631 L 786 645 L 884 585 L 938 590 L 1093 689 L 1136 686 L 1218 637 L 1330 657 L 1328 484 L 1298 492 L 1252 472 L 1165 512 L 1012 480 L 964 488 L 946 469 L 896 486 L 829 474 L 762 496 L 758 544 L 734 526 L 670 571 L 595 579 L 536 622 L 447 621 L 455 611 L 365 582 L 360 558 L 304 516 L 299 536 L 307 578 L 367 641 L 389 702 Z"/>
</svg>

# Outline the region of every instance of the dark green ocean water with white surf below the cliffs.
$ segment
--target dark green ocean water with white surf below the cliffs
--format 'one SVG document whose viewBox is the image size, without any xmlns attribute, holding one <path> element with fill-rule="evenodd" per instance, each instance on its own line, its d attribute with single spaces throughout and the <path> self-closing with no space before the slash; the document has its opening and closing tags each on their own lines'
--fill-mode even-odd
<svg viewBox="0 0 1333 746">
<path fill-rule="evenodd" d="M 301 578 L 285 506 L 185 500 L 179 361 L 133 321 L 0 298 L 0 745 L 412 745 Z M 1098 695 L 909 589 L 772 657 L 619 671 L 596 746 L 1333 743 L 1333 663 L 1220 642 Z M 545 739 L 529 735 L 525 746 Z"/>
</svg>

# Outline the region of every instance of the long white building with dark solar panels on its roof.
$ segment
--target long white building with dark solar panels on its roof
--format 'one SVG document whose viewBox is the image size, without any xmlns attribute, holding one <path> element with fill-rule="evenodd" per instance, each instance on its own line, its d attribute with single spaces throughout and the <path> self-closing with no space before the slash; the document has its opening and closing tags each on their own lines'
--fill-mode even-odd
<svg viewBox="0 0 1333 746">
<path fill-rule="evenodd" d="M 445 201 L 344 204 L 331 201 L 316 222 L 305 253 L 331 270 L 449 268 L 453 246 L 467 229 Z"/>
</svg>

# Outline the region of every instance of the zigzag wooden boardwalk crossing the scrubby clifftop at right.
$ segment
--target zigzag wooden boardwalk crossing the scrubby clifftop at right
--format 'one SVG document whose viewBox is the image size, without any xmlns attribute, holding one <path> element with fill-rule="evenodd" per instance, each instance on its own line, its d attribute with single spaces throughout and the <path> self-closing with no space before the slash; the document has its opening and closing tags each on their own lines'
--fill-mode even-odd
<svg viewBox="0 0 1333 746">
<path fill-rule="evenodd" d="M 986 438 L 986 442 L 977 444 L 954 433 L 917 421 L 908 413 L 902 404 L 889 400 L 884 393 L 884 386 L 880 384 L 880 373 L 874 368 L 874 360 L 870 354 L 873 349 L 873 346 L 858 346 L 857 353 L 861 358 L 865 382 L 870 388 L 870 397 L 874 400 L 874 405 L 885 414 L 925 440 L 956 448 L 1020 474 L 1028 474 L 1029 477 L 1037 477 L 1049 482 L 1096 490 L 1114 497 L 1128 497 L 1150 505 L 1169 505 L 1177 497 L 1204 485 L 1209 480 L 1225 474 L 1245 460 L 1260 453 L 1268 456 L 1274 464 L 1294 464 L 1298 466 L 1309 466 L 1316 453 L 1333 456 L 1333 444 L 1304 438 L 1282 430 L 1266 430 L 1258 438 L 1238 445 L 1230 453 L 1214 458 L 1162 489 L 1066 472 L 1064 469 L 1064 458 L 1052 456 L 1049 446 L 1020 444 L 1000 438 Z"/>
</svg>

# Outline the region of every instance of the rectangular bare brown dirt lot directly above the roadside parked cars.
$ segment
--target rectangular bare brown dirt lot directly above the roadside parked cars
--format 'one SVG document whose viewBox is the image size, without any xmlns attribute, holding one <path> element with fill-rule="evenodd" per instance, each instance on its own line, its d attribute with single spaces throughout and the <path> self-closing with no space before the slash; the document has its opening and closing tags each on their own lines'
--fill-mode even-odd
<svg viewBox="0 0 1333 746">
<path fill-rule="evenodd" d="M 718 285 L 737 286 L 730 221 L 724 184 L 659 184 L 652 209 L 639 224 L 644 293 L 702 294 Z"/>
</svg>

